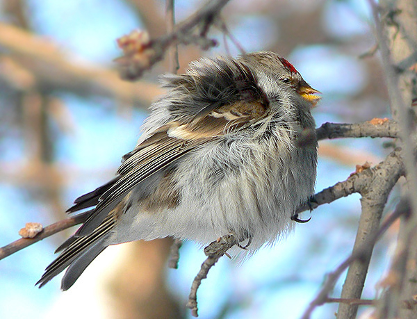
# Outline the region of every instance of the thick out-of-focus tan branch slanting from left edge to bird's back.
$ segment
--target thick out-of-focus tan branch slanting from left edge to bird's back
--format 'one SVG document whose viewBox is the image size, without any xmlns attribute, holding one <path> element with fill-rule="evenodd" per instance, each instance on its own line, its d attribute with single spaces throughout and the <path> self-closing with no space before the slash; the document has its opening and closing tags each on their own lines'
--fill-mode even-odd
<svg viewBox="0 0 417 319">
<path fill-rule="evenodd" d="M 100 95 L 118 99 L 144 109 L 163 93 L 156 84 L 145 81 L 129 83 L 110 69 L 73 62 L 50 41 L 15 26 L 0 23 L 0 46 L 10 52 L 10 59 L 0 60 L 2 69 L 6 71 L 0 76 L 16 90 L 31 90 L 34 87 L 40 90 L 69 90 L 82 96 Z M 16 83 L 14 70 L 17 67 L 26 70 L 22 78 L 25 81 Z"/>
</svg>

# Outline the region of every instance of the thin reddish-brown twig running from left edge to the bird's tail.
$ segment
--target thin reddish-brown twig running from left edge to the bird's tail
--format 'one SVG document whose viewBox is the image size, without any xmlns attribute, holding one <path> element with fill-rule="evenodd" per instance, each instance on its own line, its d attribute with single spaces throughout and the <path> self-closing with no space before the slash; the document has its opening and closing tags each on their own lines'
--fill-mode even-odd
<svg viewBox="0 0 417 319">
<path fill-rule="evenodd" d="M 84 213 L 75 215 L 74 217 L 65 218 L 65 220 L 60 220 L 59 222 L 55 222 L 54 224 L 50 224 L 49 226 L 45 227 L 43 231 L 41 231 L 34 238 L 20 238 L 18 240 L 15 240 L 13 243 L 1 247 L 0 260 L 38 242 L 39 240 L 59 233 L 64 229 L 83 223 L 85 221 L 85 218 L 87 218 L 88 213 L 90 213 L 90 211 L 86 211 Z"/>
</svg>

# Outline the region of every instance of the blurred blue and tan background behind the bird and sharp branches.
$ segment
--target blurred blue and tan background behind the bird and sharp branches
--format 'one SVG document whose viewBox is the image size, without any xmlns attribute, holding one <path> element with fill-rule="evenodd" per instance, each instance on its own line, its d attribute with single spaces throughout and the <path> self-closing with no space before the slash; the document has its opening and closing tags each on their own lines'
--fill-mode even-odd
<svg viewBox="0 0 417 319">
<path fill-rule="evenodd" d="M 175 1 L 177 22 L 203 4 Z M 313 111 L 317 126 L 389 115 L 367 1 L 232 0 L 222 19 L 246 51 L 286 56 L 323 93 Z M 135 28 L 163 35 L 165 2 L 0 0 L 0 246 L 19 238 L 26 222 L 65 218 L 72 201 L 111 179 L 136 144 L 168 63 L 136 83 L 119 79 L 115 39 Z M 220 29 L 210 36 L 219 42 L 210 51 L 179 47 L 179 72 L 200 56 L 238 54 Z M 356 164 L 377 164 L 389 152 L 384 142 L 320 142 L 316 190 L 345 180 Z M 387 209 L 397 200 L 393 192 Z M 242 265 L 222 258 L 198 291 L 200 318 L 299 318 L 325 274 L 350 254 L 359 214 L 359 195 L 340 199 Z M 363 298 L 377 293 L 396 227 L 376 246 Z M 181 248 L 178 270 L 166 266 L 171 241 L 154 240 L 109 247 L 65 293 L 62 275 L 35 287 L 73 231 L 0 262 L 0 318 L 190 318 L 185 304 L 205 259 L 193 243 Z M 334 318 L 336 310 L 326 304 L 313 318 Z"/>
</svg>

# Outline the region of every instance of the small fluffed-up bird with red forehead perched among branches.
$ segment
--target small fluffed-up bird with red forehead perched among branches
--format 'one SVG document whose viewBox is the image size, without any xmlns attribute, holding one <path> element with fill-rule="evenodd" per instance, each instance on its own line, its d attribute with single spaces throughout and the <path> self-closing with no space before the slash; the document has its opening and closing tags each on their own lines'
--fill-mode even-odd
<svg viewBox="0 0 417 319">
<path fill-rule="evenodd" d="M 267 51 L 202 58 L 163 86 L 117 176 L 68 209 L 93 207 L 40 287 L 68 268 L 65 291 L 106 247 L 139 239 L 206 245 L 233 234 L 251 254 L 291 229 L 313 195 L 320 96 L 288 60 Z"/>
</svg>

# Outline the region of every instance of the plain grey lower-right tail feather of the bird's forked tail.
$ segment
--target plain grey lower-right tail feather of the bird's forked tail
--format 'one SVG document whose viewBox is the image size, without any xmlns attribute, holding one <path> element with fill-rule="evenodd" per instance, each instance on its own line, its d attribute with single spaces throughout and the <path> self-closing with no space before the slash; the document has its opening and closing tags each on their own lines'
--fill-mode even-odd
<svg viewBox="0 0 417 319">
<path fill-rule="evenodd" d="M 85 250 L 80 256 L 76 257 L 72 261 L 70 267 L 68 267 L 63 280 L 61 281 L 61 289 L 66 291 L 70 288 L 76 279 L 79 279 L 85 268 L 103 251 L 107 248 L 104 243 L 107 236 L 101 237 L 96 243 L 92 244 Z"/>
</svg>

